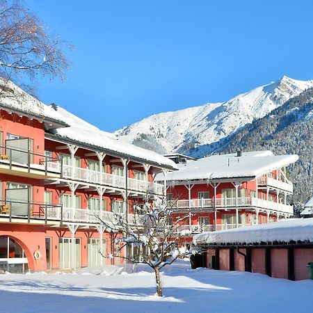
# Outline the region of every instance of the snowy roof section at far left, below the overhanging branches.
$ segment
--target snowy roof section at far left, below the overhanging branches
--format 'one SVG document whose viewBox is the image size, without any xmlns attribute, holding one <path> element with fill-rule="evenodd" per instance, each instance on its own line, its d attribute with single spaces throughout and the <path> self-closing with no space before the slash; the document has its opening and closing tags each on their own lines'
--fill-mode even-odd
<svg viewBox="0 0 313 313">
<path fill-rule="evenodd" d="M 0 90 L 0 109 L 45 121 L 47 128 L 66 126 L 62 116 L 51 106 L 43 104 L 12 81 L 0 78 Z M 57 125 L 51 125 L 51 122 Z"/>
</svg>

